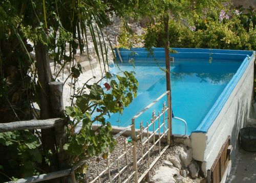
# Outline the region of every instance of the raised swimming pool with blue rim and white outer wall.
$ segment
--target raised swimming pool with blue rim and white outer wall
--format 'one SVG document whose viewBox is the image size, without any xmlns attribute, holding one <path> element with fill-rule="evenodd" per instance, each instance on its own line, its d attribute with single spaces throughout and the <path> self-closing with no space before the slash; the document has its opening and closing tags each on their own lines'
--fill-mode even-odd
<svg viewBox="0 0 256 183">
<path fill-rule="evenodd" d="M 184 118 L 187 121 L 187 135 L 189 136 L 184 137 L 186 139 L 186 142 L 184 142 L 187 146 L 192 147 L 193 159 L 201 162 L 200 168 L 204 176 L 207 177 L 208 170 L 215 166 L 214 163 L 219 157 L 218 154 L 228 138 L 230 138 L 230 145 L 233 147 L 230 160 L 233 160 L 236 155 L 236 149 L 239 147 L 239 130 L 245 126 L 246 120 L 250 117 L 250 111 L 253 109 L 255 51 L 173 49 L 178 51 L 178 54 L 170 54 L 170 57 L 175 58 L 172 71 L 178 73 L 173 73 L 171 76 L 173 110 L 175 116 Z M 135 65 L 137 63 L 138 68 L 141 65 L 150 66 L 150 64 L 147 64 L 154 63 L 152 62 L 152 57 L 147 57 L 148 52 L 145 48 L 119 50 L 124 61 L 121 65 L 123 68 L 131 68 L 125 63 L 131 58 L 135 59 Z M 164 49 L 154 48 L 153 52 L 155 58 L 160 63 L 162 62 L 162 66 L 164 66 Z M 209 58 L 212 58 L 211 63 Z M 155 66 L 154 70 L 157 70 L 156 68 L 157 66 Z M 152 71 L 153 68 L 145 70 L 149 74 L 148 70 Z M 139 68 L 137 70 L 138 76 L 140 71 L 142 69 Z M 111 121 L 113 125 L 126 126 L 125 121 L 128 124 L 131 123 L 129 118 L 133 117 L 133 108 L 139 109 L 139 106 L 149 102 L 148 100 L 155 100 L 160 94 L 155 98 L 151 98 L 154 95 L 153 90 L 156 93 L 158 91 L 161 93 L 160 90 L 165 91 L 165 85 L 161 83 L 164 81 L 157 80 L 159 77 L 152 75 L 144 79 L 144 84 L 150 85 L 150 87 L 143 89 L 143 85 L 139 86 L 141 87 L 139 88 L 141 92 L 139 92 L 137 99 L 134 99 L 134 101 L 137 100 L 134 106 L 129 106 L 129 109 L 127 108 L 127 111 L 124 111 L 122 116 L 111 116 L 112 119 L 122 120 L 122 123 Z M 143 77 L 137 78 L 143 82 Z M 156 80 L 157 82 L 155 82 Z M 148 109 L 147 117 L 142 120 L 150 121 L 152 111 L 153 108 Z M 131 115 L 130 117 L 129 114 Z M 140 121 L 136 122 L 139 123 Z M 136 128 L 139 126 L 137 123 L 135 123 Z M 122 128 L 115 129 L 117 131 L 122 130 Z M 172 130 L 174 135 L 184 134 L 184 124 L 174 121 Z M 183 136 L 176 136 L 176 138 L 181 137 L 183 138 Z"/>
</svg>

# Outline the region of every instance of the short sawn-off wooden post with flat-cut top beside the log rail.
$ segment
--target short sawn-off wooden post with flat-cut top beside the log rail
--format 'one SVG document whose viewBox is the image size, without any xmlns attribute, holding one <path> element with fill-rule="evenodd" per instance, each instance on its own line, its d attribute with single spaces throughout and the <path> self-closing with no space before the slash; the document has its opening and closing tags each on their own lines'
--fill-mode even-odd
<svg viewBox="0 0 256 183">
<path fill-rule="evenodd" d="M 61 82 L 51 82 L 50 86 L 50 100 L 52 106 L 52 116 L 53 117 L 64 117 L 63 108 L 63 84 Z M 55 126 L 55 140 L 58 148 L 58 165 L 59 169 L 67 169 L 69 167 L 69 155 L 65 150 L 63 150 L 63 145 L 67 143 L 66 125 L 65 122 L 58 123 Z M 62 182 L 71 182 L 71 177 L 62 177 Z"/>
</svg>

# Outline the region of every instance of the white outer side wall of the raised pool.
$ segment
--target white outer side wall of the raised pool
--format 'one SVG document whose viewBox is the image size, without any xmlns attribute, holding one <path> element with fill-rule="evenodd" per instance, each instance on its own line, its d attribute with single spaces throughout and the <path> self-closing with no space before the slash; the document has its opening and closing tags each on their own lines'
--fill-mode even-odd
<svg viewBox="0 0 256 183">
<path fill-rule="evenodd" d="M 206 134 L 192 133 L 191 141 L 193 147 L 193 158 L 203 162 L 202 170 L 211 168 L 217 155 L 226 141 L 231 136 L 233 159 L 238 147 L 239 129 L 244 127 L 245 121 L 249 118 L 253 91 L 253 61 L 249 63 L 236 87 L 231 92 L 221 112 L 211 124 Z M 202 141 L 205 139 L 205 142 Z"/>
</svg>

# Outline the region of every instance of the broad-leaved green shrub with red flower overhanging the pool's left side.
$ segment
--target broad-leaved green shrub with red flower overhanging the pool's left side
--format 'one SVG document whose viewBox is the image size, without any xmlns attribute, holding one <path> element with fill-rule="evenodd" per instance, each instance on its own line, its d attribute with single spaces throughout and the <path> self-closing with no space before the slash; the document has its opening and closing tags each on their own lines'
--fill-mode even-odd
<svg viewBox="0 0 256 183">
<path fill-rule="evenodd" d="M 109 148 L 113 150 L 115 140 L 110 131 L 112 130 L 109 121 L 105 121 L 105 116 L 110 113 L 122 113 L 136 97 L 138 82 L 133 73 L 124 71 L 124 76 L 117 75 L 116 80 L 111 80 L 112 75 L 106 74 L 110 84 L 105 83 L 105 88 L 98 84 L 88 85 L 86 88 L 90 92 L 78 89 L 75 106 L 66 107 L 66 114 L 71 117 L 69 122 L 69 143 L 64 148 L 74 156 L 75 163 L 79 156 L 100 155 Z M 111 89 L 110 89 L 111 88 Z M 95 113 L 97 112 L 97 113 Z M 92 124 L 97 122 L 96 130 L 92 129 Z M 77 132 L 77 126 L 81 129 Z"/>
</svg>

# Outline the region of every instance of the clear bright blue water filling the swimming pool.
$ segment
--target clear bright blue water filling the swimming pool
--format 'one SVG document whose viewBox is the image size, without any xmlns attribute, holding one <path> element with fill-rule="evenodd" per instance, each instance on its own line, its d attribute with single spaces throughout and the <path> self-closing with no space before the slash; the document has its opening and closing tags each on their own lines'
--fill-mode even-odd
<svg viewBox="0 0 256 183">
<path fill-rule="evenodd" d="M 135 71 L 139 87 L 137 97 L 129 107 L 123 110 L 123 114 L 112 114 L 107 119 L 113 126 L 130 125 L 133 116 L 166 91 L 165 72 L 161 69 L 165 67 L 163 61 L 140 62 L 136 60 L 134 65 L 135 67 L 130 63 L 119 63 L 121 70 Z M 173 112 L 174 116 L 186 120 L 187 135 L 190 135 L 202 122 L 240 65 L 239 61 L 213 60 L 209 62 L 207 59 L 180 59 L 175 60 L 175 63 L 171 65 Z M 121 74 L 119 68 L 115 66 L 111 72 Z M 147 121 L 150 122 L 152 111 L 155 110 L 156 114 L 161 111 L 164 101 L 166 97 L 137 118 L 136 128 L 139 128 L 141 121 L 144 126 Z M 184 133 L 184 123 L 173 119 L 173 134 Z"/>
</svg>

